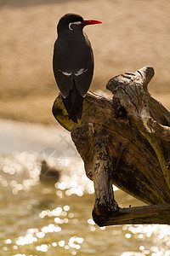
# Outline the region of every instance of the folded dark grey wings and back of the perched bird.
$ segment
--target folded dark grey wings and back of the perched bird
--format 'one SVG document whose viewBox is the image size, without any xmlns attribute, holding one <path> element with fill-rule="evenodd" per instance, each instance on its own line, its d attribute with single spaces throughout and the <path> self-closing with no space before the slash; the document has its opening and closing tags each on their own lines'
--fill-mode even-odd
<svg viewBox="0 0 170 256">
<path fill-rule="evenodd" d="M 73 80 L 80 95 L 84 97 L 94 73 L 94 55 L 88 37 L 77 37 L 72 44 L 58 38 L 54 44 L 53 67 L 63 97 L 69 96 Z"/>
</svg>

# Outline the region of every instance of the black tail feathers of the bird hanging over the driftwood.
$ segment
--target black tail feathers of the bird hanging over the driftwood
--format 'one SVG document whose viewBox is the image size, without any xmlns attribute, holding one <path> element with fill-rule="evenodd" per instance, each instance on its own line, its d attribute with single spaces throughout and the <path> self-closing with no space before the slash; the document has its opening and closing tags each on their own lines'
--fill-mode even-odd
<svg viewBox="0 0 170 256">
<path fill-rule="evenodd" d="M 73 88 L 70 91 L 69 96 L 66 98 L 62 97 L 65 109 L 69 114 L 69 119 L 77 124 L 77 118 L 82 119 L 82 102 L 83 97 L 77 90 L 75 81 L 73 82 Z"/>
</svg>

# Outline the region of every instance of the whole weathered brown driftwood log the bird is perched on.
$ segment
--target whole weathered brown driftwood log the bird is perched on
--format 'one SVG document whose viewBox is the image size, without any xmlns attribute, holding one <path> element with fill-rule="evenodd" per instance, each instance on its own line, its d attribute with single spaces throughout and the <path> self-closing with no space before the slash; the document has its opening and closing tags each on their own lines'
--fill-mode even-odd
<svg viewBox="0 0 170 256">
<path fill-rule="evenodd" d="M 112 100 L 88 92 L 82 120 L 68 119 L 59 95 L 55 119 L 71 131 L 94 181 L 96 224 L 170 224 L 170 112 L 147 90 L 152 67 L 111 79 Z M 152 206 L 121 208 L 112 183 Z"/>
</svg>

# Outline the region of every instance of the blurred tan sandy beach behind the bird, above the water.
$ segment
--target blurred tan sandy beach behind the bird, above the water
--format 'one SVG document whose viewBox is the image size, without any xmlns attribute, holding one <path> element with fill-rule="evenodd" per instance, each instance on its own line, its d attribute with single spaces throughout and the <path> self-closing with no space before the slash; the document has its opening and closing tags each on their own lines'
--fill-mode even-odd
<svg viewBox="0 0 170 256">
<path fill-rule="evenodd" d="M 51 108 L 59 90 L 52 56 L 56 24 L 74 12 L 102 25 L 85 28 L 95 57 L 90 90 L 144 66 L 155 68 L 152 96 L 170 108 L 170 2 L 0 1 L 0 118 L 54 124 Z M 109 93 L 111 96 L 111 93 Z"/>
</svg>

